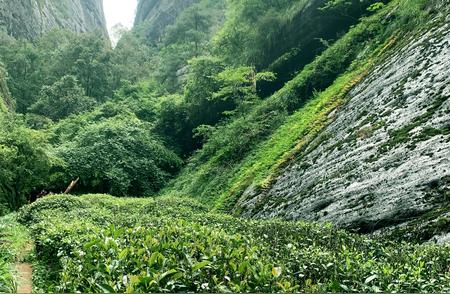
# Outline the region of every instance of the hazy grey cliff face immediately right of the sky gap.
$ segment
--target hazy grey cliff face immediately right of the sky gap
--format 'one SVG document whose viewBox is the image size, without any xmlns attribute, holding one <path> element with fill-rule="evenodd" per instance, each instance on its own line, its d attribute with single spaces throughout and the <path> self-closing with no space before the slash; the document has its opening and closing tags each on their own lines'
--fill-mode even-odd
<svg viewBox="0 0 450 294">
<path fill-rule="evenodd" d="M 149 42 L 157 42 L 168 25 L 199 0 L 139 0 L 134 25 L 145 26 Z"/>
</svg>

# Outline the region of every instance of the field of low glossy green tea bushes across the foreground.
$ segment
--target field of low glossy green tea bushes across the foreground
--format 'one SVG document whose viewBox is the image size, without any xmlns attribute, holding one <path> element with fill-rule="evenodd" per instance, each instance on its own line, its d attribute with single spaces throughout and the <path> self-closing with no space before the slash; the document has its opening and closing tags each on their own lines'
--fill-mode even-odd
<svg viewBox="0 0 450 294">
<path fill-rule="evenodd" d="M 450 250 L 331 225 L 251 221 L 192 200 L 52 196 L 25 207 L 60 292 L 448 292 Z"/>
</svg>

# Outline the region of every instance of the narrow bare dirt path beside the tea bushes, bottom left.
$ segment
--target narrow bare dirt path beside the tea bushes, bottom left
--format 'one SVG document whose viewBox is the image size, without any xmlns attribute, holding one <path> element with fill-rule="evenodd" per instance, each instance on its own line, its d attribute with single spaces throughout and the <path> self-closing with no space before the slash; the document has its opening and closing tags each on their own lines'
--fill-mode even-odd
<svg viewBox="0 0 450 294">
<path fill-rule="evenodd" d="M 24 262 L 32 250 L 33 245 L 27 244 L 14 264 L 14 269 L 17 273 L 18 294 L 29 294 L 33 292 L 33 266 L 30 263 Z"/>
</svg>

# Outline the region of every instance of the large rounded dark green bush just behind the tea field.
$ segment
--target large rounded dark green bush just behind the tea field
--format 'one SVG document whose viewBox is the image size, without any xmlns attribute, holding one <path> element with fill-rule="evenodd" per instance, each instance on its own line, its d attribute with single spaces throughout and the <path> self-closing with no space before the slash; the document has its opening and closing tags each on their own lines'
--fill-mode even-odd
<svg viewBox="0 0 450 294">
<path fill-rule="evenodd" d="M 81 190 L 149 196 L 178 171 L 181 160 L 151 135 L 137 118 L 117 116 L 81 129 L 57 149 L 69 179 Z"/>
</svg>

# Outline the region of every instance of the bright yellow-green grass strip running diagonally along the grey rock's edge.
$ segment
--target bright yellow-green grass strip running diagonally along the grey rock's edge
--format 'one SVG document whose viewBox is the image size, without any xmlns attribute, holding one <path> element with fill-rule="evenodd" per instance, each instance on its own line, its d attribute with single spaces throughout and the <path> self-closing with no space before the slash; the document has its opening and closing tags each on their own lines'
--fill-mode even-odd
<svg viewBox="0 0 450 294">
<path fill-rule="evenodd" d="M 236 197 L 249 183 L 257 189 L 270 187 L 278 171 L 288 162 L 298 159 L 297 155 L 332 120 L 328 116 L 330 112 L 345 102 L 348 91 L 365 73 L 366 68 L 361 67 L 356 72 L 339 77 L 331 87 L 290 116 L 266 142 L 257 147 L 254 155 L 244 160 L 239 172 L 231 180 L 233 186 L 221 194 L 216 207 L 232 209 Z"/>
</svg>

